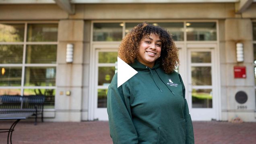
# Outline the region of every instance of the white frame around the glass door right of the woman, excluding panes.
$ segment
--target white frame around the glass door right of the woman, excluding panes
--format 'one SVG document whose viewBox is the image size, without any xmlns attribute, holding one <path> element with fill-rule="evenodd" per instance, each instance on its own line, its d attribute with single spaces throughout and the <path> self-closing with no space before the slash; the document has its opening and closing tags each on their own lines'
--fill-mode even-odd
<svg viewBox="0 0 256 144">
<path fill-rule="evenodd" d="M 213 113 L 214 117 L 212 119 L 220 120 L 221 119 L 221 94 L 220 94 L 220 70 L 219 70 L 219 53 L 218 53 L 218 44 L 217 43 L 190 43 L 186 45 L 186 54 L 187 54 L 187 61 L 186 61 L 186 75 L 187 75 L 187 82 L 186 82 L 186 96 L 188 100 L 188 106 L 191 113 L 192 120 L 211 120 L 211 119 L 198 119 L 199 112 L 205 111 L 204 108 L 192 108 L 192 97 L 191 97 L 191 89 L 192 84 L 191 82 L 191 65 L 190 65 L 190 51 L 194 49 L 195 51 L 211 51 L 212 56 L 212 91 L 214 93 L 213 99 Z M 207 111 L 207 110 L 206 110 Z M 197 113 L 197 115 L 193 115 L 193 113 Z"/>
</svg>

